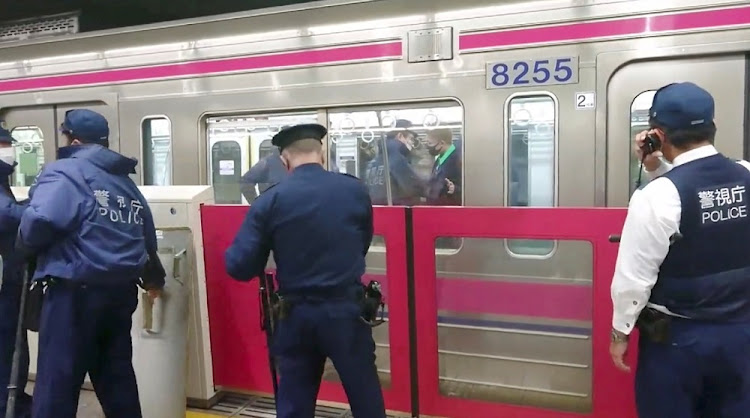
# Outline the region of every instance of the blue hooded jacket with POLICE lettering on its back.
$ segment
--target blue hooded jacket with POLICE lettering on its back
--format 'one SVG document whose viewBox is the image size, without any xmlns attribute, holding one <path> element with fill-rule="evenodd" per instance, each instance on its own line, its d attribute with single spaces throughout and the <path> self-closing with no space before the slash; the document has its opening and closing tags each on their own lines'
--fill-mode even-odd
<svg viewBox="0 0 750 418">
<path fill-rule="evenodd" d="M 128 177 L 138 162 L 99 145 L 60 148 L 58 158 L 37 177 L 19 228 L 20 245 L 38 255 L 34 279 L 135 283 L 150 258 L 144 284 L 163 286 L 151 211 Z"/>
</svg>

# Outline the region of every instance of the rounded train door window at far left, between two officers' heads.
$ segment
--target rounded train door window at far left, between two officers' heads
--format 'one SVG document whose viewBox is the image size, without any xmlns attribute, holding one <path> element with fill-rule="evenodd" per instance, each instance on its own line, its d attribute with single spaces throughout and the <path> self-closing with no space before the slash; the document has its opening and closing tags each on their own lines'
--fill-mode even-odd
<svg viewBox="0 0 750 418">
<path fill-rule="evenodd" d="M 16 140 L 16 162 L 13 185 L 28 187 L 34 183 L 44 165 L 44 134 L 37 126 L 16 126 L 11 131 Z"/>
</svg>

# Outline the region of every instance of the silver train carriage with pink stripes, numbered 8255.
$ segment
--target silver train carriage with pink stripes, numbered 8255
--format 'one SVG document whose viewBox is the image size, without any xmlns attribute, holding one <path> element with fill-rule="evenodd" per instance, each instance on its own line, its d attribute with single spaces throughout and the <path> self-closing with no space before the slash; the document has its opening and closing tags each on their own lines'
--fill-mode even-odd
<svg viewBox="0 0 750 418">
<path fill-rule="evenodd" d="M 238 177 L 282 125 L 329 126 L 328 164 L 365 177 L 373 144 L 405 118 L 420 139 L 452 130 L 465 206 L 622 207 L 630 141 L 662 85 L 710 90 L 718 148 L 745 155 L 747 5 L 334 0 L 18 43 L 0 46 L 0 119 L 21 141 L 18 186 L 54 160 L 65 111 L 89 107 L 109 118 L 112 147 L 139 157 L 138 182 L 213 184 L 217 203 L 247 203 Z M 412 164 L 429 177 L 419 144 Z M 436 251 L 441 391 L 590 410 L 588 243 L 464 238 Z M 387 275 L 382 243 L 368 266 Z M 461 289 L 483 285 L 520 300 L 461 309 Z M 387 328 L 376 338 L 387 383 Z"/>
</svg>

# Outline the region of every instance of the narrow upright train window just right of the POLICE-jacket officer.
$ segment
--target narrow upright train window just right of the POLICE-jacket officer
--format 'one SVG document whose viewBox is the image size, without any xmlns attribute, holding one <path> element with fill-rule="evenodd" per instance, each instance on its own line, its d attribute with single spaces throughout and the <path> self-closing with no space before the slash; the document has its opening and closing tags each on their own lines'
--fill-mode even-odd
<svg viewBox="0 0 750 418">
<path fill-rule="evenodd" d="M 143 184 L 172 185 L 172 123 L 166 116 L 147 117 L 141 122 Z"/>
</svg>

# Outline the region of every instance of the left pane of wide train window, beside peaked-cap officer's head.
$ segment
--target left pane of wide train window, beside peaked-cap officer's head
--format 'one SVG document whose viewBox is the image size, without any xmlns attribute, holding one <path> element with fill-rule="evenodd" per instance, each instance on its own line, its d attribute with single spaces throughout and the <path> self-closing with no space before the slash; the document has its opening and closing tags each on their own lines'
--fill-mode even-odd
<svg viewBox="0 0 750 418">
<path fill-rule="evenodd" d="M 300 123 L 318 123 L 316 112 L 248 116 L 220 116 L 206 120 L 209 182 L 216 203 L 251 203 L 279 178 L 286 175 L 281 161 L 271 154 L 261 159 L 261 144 L 281 128 Z M 243 177 L 244 176 L 244 177 Z M 244 180 L 243 180 L 244 178 Z"/>
</svg>

